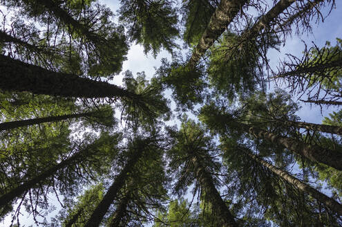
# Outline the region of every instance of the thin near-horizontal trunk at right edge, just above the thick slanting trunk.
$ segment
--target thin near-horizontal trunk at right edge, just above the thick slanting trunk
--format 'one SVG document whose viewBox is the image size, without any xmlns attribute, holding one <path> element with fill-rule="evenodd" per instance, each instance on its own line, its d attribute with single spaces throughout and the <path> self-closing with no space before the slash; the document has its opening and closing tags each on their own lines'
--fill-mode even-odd
<svg viewBox="0 0 342 227">
<path fill-rule="evenodd" d="M 326 132 L 326 133 L 331 133 L 331 134 L 342 136 L 342 127 L 339 127 L 339 126 L 320 125 L 320 124 L 314 124 L 314 123 L 307 123 L 307 122 L 301 122 L 301 121 L 289 121 L 289 120 L 284 120 L 281 122 L 284 125 L 294 126 L 297 128 L 310 129 L 313 131 L 321 131 L 321 132 Z"/>
</svg>

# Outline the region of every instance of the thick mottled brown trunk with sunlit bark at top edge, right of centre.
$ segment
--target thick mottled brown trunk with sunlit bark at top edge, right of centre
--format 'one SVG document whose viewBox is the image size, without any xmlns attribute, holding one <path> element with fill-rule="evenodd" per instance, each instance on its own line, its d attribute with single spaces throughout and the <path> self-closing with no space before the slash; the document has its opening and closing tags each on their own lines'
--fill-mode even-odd
<svg viewBox="0 0 342 227">
<path fill-rule="evenodd" d="M 241 10 L 247 0 L 221 0 L 218 8 L 211 16 L 209 24 L 203 33 L 200 42 L 193 50 L 189 60 L 189 66 L 194 67 L 205 54 L 207 49 L 215 42 L 220 35 L 227 29 L 227 26 L 233 21 L 234 17 Z"/>
</svg>

